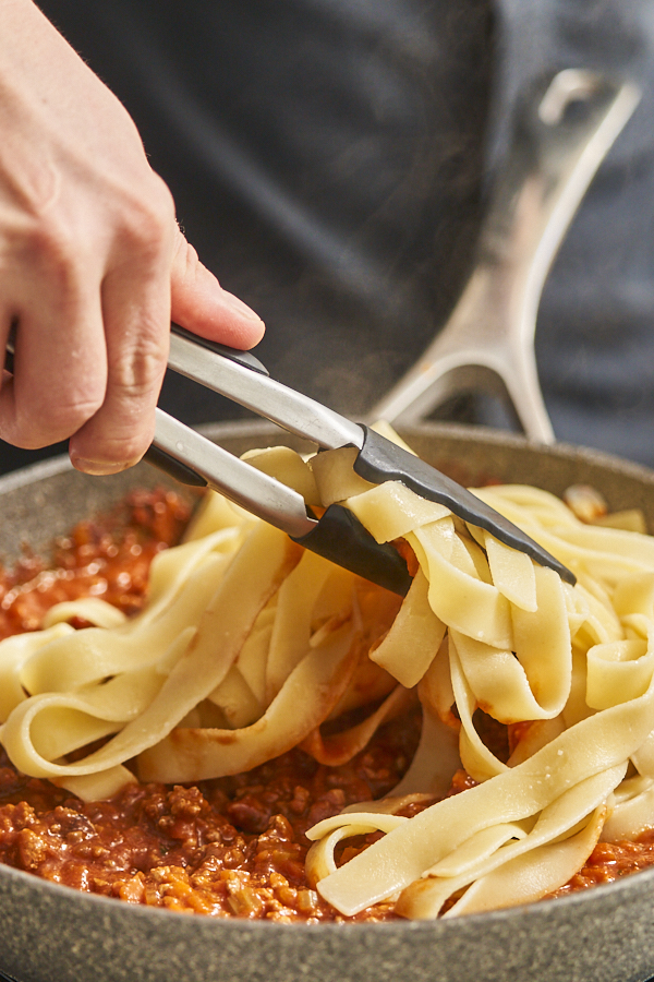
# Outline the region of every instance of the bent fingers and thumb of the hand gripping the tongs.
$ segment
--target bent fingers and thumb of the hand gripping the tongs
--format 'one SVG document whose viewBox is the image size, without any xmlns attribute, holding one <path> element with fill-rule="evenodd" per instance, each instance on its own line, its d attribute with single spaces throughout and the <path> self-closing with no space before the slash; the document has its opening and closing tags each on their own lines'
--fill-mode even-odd
<svg viewBox="0 0 654 982">
<path fill-rule="evenodd" d="M 117 237 L 109 272 L 57 235 L 33 243 L 28 263 L 0 267 L 0 351 L 11 322 L 19 327 L 0 438 L 26 448 L 70 438 L 77 469 L 117 472 L 152 442 L 171 298 L 190 331 L 242 349 L 261 339 L 261 319 L 202 265 L 171 206 L 142 226 Z"/>
</svg>

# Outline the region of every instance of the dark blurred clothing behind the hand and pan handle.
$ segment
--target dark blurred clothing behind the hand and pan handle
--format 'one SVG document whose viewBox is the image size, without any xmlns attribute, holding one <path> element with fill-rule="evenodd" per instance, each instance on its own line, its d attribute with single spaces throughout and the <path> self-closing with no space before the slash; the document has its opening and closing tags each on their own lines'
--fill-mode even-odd
<svg viewBox="0 0 654 982">
<path fill-rule="evenodd" d="M 637 80 L 548 279 L 537 359 L 559 439 L 654 464 L 651 0 L 39 5 L 134 117 L 203 261 L 266 321 L 261 359 L 355 417 L 447 319 L 519 94 L 569 67 Z M 177 376 L 161 405 L 239 415 Z M 1 450 L 5 470 L 52 453 Z"/>
</svg>

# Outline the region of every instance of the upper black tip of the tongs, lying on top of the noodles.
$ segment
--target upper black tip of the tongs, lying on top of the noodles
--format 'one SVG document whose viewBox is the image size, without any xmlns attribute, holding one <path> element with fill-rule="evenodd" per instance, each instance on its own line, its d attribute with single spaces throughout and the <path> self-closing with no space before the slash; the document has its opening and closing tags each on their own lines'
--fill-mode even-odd
<svg viewBox="0 0 654 982">
<path fill-rule="evenodd" d="M 459 518 L 485 529 L 506 546 L 525 552 L 574 586 L 577 577 L 567 566 L 485 502 L 374 430 L 362 429 L 365 434 L 363 447 L 354 462 L 354 470 L 360 477 L 373 484 L 401 481 L 421 498 L 445 505 Z"/>
</svg>

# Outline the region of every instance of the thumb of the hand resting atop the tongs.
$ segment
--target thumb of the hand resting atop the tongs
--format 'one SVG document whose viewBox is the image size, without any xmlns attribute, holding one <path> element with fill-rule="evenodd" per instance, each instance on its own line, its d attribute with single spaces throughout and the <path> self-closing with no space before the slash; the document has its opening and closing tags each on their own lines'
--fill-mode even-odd
<svg viewBox="0 0 654 982">
<path fill-rule="evenodd" d="M 252 348 L 262 339 L 265 331 L 262 319 L 222 289 L 179 228 L 170 287 L 171 318 L 180 327 L 241 350 Z"/>
</svg>

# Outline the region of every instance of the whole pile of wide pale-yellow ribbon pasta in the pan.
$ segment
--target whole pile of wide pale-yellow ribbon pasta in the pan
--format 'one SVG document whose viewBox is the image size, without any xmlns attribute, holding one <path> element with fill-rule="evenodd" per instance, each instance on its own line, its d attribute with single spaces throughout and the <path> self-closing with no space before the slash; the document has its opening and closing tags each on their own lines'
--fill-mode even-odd
<svg viewBox="0 0 654 982">
<path fill-rule="evenodd" d="M 582 524 L 535 488 L 476 490 L 574 572 L 571 587 L 403 484 L 366 483 L 353 453 L 253 463 L 405 543 L 403 600 L 209 494 L 157 556 L 136 618 L 88 598 L 0 644 L 0 740 L 20 770 L 97 799 L 294 746 L 342 764 L 417 699 L 409 770 L 310 829 L 311 881 L 346 915 L 388 899 L 417 919 L 536 900 L 601 838 L 654 826 L 654 540 Z M 95 626 L 74 631 L 80 616 Z M 508 759 L 479 709 L 509 727 Z M 448 797 L 461 768 L 472 787 Z M 338 865 L 340 845 L 370 833 L 383 835 Z"/>
</svg>

